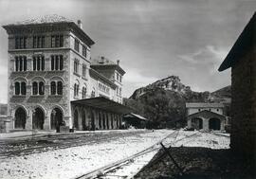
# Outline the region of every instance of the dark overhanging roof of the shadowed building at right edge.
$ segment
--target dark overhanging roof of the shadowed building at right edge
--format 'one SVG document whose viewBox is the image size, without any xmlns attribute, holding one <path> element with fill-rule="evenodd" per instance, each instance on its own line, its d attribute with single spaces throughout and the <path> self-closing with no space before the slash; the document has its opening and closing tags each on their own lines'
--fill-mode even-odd
<svg viewBox="0 0 256 179">
<path fill-rule="evenodd" d="M 247 51 L 255 44 L 255 33 L 256 32 L 256 12 L 249 20 L 247 26 L 244 28 L 235 44 L 229 51 L 228 56 L 221 63 L 219 71 L 224 71 L 229 67 L 232 67 L 235 63 L 238 63 L 240 59 L 245 56 Z"/>
</svg>

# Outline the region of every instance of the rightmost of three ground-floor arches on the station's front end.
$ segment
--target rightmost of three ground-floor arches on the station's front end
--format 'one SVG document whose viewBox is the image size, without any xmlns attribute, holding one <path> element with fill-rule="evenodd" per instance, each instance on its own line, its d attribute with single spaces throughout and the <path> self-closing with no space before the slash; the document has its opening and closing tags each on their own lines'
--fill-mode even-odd
<svg viewBox="0 0 256 179">
<path fill-rule="evenodd" d="M 50 129 L 51 130 L 56 130 L 57 133 L 60 132 L 60 126 L 63 124 L 64 122 L 64 113 L 63 111 L 58 108 L 55 107 L 50 114 Z"/>
</svg>

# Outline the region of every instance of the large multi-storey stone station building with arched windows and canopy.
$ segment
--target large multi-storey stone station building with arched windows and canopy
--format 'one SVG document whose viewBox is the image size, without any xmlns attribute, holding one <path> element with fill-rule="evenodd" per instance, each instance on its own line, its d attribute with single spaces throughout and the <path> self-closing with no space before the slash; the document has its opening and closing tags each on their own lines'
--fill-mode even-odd
<svg viewBox="0 0 256 179">
<path fill-rule="evenodd" d="M 119 61 L 91 59 L 82 22 L 47 15 L 4 26 L 9 35 L 9 130 L 119 129 Z"/>
</svg>

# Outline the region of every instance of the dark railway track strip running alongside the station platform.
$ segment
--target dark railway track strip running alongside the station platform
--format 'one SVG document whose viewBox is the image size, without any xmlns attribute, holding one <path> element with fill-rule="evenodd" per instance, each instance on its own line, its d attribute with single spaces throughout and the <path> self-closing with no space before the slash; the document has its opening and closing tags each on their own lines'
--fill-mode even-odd
<svg viewBox="0 0 256 179">
<path fill-rule="evenodd" d="M 118 135 L 116 135 L 118 134 Z M 127 133 L 113 133 L 113 134 L 70 134 L 68 138 L 66 138 L 65 134 L 57 134 L 57 135 L 44 135 L 38 136 L 35 138 L 29 139 L 13 139 L 10 141 L 1 141 L 0 146 L 3 152 L 0 152 L 0 159 L 5 159 L 11 156 L 19 156 L 19 155 L 27 155 L 35 152 L 48 152 L 53 150 L 60 150 L 66 149 L 70 147 L 79 147 L 83 145 L 90 145 L 97 142 L 105 142 L 108 140 L 113 140 L 115 138 L 119 138 L 120 135 L 134 135 L 134 134 L 141 134 L 139 132 L 127 132 Z M 94 139 L 88 139 L 89 136 L 94 135 Z M 9 151 L 5 151 L 4 145 L 12 145 L 15 146 L 22 146 L 21 148 L 25 149 L 17 149 L 13 150 L 10 149 Z M 27 145 L 31 145 L 27 147 Z M 9 147 L 11 148 L 11 147 Z"/>
</svg>

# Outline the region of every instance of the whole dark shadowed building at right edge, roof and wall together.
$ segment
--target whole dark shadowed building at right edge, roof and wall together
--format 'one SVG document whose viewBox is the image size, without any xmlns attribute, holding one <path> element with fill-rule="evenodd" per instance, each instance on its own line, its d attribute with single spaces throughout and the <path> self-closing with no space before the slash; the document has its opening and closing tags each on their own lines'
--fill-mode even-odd
<svg viewBox="0 0 256 179">
<path fill-rule="evenodd" d="M 232 46 L 219 71 L 231 67 L 230 147 L 256 161 L 256 13 Z"/>
</svg>

